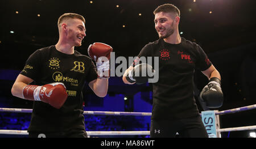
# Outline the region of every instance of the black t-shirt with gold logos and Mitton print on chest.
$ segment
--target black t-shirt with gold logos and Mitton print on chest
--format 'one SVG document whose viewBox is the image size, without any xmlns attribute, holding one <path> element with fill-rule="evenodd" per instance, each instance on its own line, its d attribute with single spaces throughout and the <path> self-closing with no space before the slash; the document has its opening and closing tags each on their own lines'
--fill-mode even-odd
<svg viewBox="0 0 256 149">
<path fill-rule="evenodd" d="M 39 86 L 62 82 L 68 93 L 60 109 L 42 101 L 34 101 L 28 131 L 85 129 L 81 92 L 85 81 L 97 79 L 92 59 L 76 50 L 74 54 L 61 53 L 52 45 L 31 54 L 20 74 L 33 79 Z"/>
</svg>

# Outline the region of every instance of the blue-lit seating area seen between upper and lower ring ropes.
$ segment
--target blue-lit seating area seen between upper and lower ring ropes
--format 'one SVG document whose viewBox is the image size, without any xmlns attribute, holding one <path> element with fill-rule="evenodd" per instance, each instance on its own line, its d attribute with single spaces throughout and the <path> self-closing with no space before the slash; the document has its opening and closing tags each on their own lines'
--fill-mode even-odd
<svg viewBox="0 0 256 149">
<path fill-rule="evenodd" d="M 30 113 L 0 113 L 1 130 L 27 130 Z M 147 120 L 148 118 L 148 120 Z M 85 115 L 86 131 L 149 131 L 150 117 Z"/>
</svg>

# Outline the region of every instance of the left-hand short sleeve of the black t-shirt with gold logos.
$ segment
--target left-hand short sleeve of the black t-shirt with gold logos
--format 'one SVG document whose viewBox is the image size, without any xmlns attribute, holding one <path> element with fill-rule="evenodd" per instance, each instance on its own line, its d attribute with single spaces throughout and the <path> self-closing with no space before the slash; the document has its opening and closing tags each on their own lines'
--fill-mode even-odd
<svg viewBox="0 0 256 149">
<path fill-rule="evenodd" d="M 38 78 L 40 73 L 40 50 L 36 50 L 28 57 L 26 64 L 20 74 L 33 80 Z"/>
</svg>

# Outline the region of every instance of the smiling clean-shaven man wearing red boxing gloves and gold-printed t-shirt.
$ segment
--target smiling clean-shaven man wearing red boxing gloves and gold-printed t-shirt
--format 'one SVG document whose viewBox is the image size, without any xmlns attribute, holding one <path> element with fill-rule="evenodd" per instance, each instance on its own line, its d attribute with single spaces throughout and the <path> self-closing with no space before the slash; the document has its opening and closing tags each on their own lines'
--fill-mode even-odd
<svg viewBox="0 0 256 149">
<path fill-rule="evenodd" d="M 108 92 L 108 61 L 112 47 L 99 42 L 90 45 L 89 56 L 75 50 L 85 34 L 85 19 L 74 13 L 60 16 L 59 41 L 56 45 L 36 50 L 27 59 L 11 92 L 22 99 L 33 100 L 29 137 L 87 137 L 82 108 L 82 88 L 88 82 L 100 97 Z M 32 85 L 30 83 L 35 84 Z"/>
</svg>

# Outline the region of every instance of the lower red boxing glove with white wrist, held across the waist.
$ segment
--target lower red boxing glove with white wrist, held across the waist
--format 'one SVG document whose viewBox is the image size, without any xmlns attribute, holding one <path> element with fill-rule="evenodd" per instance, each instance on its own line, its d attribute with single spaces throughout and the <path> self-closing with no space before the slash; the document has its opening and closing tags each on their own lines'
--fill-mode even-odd
<svg viewBox="0 0 256 149">
<path fill-rule="evenodd" d="M 67 100 L 68 94 L 65 85 L 56 82 L 44 86 L 27 85 L 23 88 L 23 97 L 28 100 L 43 101 L 60 109 Z"/>
</svg>

